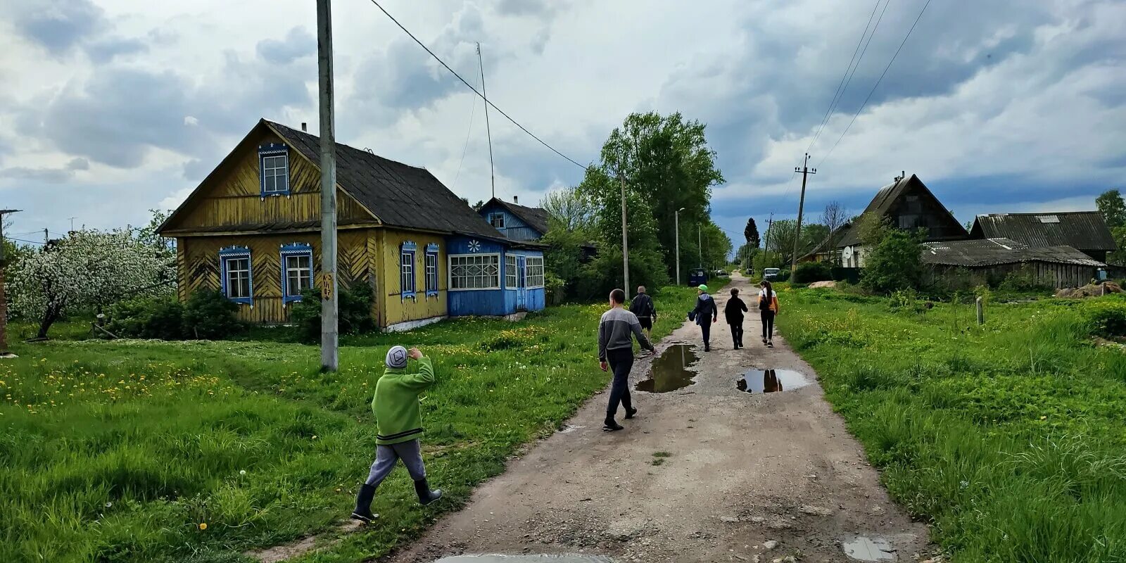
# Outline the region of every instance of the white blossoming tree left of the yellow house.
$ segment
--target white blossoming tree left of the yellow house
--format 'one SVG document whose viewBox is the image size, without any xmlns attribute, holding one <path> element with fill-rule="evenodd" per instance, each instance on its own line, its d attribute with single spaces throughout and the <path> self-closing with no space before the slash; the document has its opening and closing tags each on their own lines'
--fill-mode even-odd
<svg viewBox="0 0 1126 563">
<path fill-rule="evenodd" d="M 168 293 L 176 280 L 175 256 L 120 230 L 71 233 L 24 256 L 14 269 L 12 312 L 39 319 L 39 338 L 68 310 Z"/>
</svg>

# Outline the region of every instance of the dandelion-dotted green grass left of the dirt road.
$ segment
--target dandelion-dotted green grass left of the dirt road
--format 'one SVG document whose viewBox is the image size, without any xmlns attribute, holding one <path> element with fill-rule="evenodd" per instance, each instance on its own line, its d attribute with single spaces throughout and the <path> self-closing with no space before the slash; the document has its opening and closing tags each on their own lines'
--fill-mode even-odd
<svg viewBox="0 0 1126 563">
<path fill-rule="evenodd" d="M 687 311 L 695 291 L 655 298 Z M 418 346 L 439 379 L 422 402 L 422 441 L 445 499 L 419 507 L 396 471 L 376 495 L 375 524 L 303 561 L 377 557 L 464 504 L 519 445 L 607 383 L 596 360 L 604 310 L 346 338 L 334 374 L 320 373 L 316 347 L 297 343 L 16 343 L 19 359 L 0 360 L 0 561 L 231 562 L 339 534 L 372 463 L 368 403 L 384 355 Z M 654 337 L 680 322 L 659 318 Z"/>
</svg>

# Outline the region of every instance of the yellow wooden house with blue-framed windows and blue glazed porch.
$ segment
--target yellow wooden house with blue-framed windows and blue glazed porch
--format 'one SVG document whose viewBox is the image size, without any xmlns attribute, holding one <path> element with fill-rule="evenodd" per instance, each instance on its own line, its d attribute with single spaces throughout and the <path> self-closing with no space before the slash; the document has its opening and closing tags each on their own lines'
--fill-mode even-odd
<svg viewBox="0 0 1126 563">
<path fill-rule="evenodd" d="M 240 318 L 289 320 L 321 263 L 320 138 L 260 120 L 161 225 L 179 296 L 220 289 Z M 338 283 L 368 284 L 387 330 L 543 309 L 538 244 L 510 241 L 429 171 L 337 144 Z"/>
</svg>

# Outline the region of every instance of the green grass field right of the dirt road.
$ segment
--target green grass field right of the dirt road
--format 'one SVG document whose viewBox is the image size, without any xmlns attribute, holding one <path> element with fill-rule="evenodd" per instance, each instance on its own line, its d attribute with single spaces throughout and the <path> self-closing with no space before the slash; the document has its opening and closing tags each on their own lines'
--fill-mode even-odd
<svg viewBox="0 0 1126 563">
<path fill-rule="evenodd" d="M 1120 296 L 897 311 L 784 289 L 779 330 L 891 493 L 957 562 L 1126 561 L 1126 354 L 1092 343 Z"/>
</svg>

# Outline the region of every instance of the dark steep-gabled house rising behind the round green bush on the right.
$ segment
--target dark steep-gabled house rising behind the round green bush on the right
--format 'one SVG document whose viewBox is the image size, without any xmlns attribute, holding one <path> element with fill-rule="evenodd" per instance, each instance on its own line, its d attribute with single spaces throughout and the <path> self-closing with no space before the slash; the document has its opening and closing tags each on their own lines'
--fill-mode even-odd
<svg viewBox="0 0 1126 563">
<path fill-rule="evenodd" d="M 864 214 L 875 214 L 891 222 L 897 229 L 924 229 L 926 242 L 954 241 L 968 238 L 965 227 L 931 194 L 930 189 L 911 175 L 896 177 L 895 181 L 881 188 Z M 854 223 L 837 242 L 841 265 L 848 268 L 864 266 L 866 249 L 860 242 L 857 223 Z"/>
</svg>

